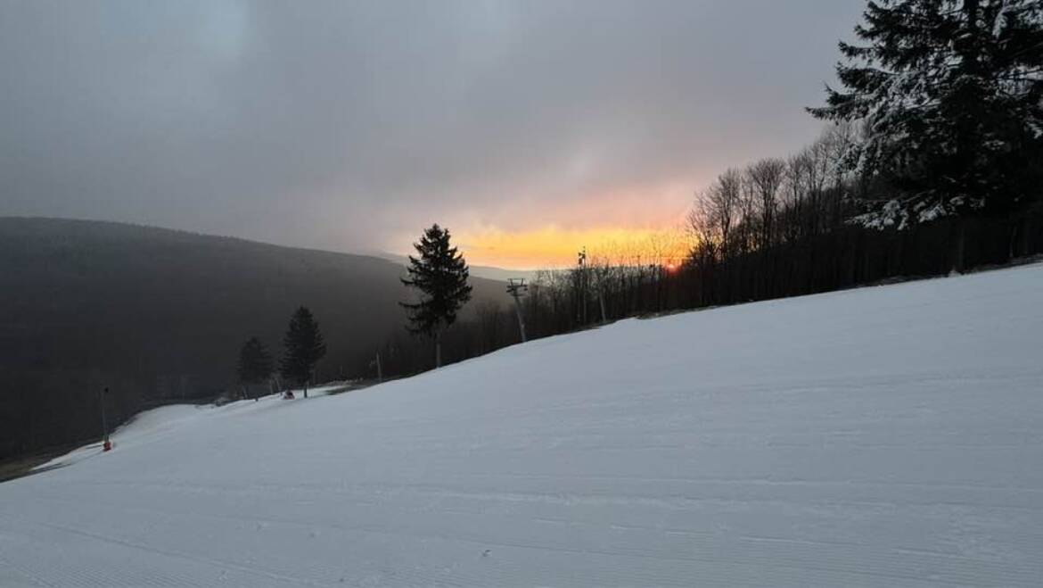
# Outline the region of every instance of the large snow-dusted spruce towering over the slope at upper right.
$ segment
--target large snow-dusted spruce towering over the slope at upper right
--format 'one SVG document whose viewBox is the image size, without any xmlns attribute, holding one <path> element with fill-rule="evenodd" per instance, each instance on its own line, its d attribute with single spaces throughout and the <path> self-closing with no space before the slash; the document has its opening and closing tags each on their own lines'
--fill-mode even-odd
<svg viewBox="0 0 1043 588">
<path fill-rule="evenodd" d="M 871 226 L 1006 214 L 1043 185 L 1043 2 L 879 0 L 841 43 L 819 118 L 864 121 L 849 163 L 892 190 Z"/>
</svg>

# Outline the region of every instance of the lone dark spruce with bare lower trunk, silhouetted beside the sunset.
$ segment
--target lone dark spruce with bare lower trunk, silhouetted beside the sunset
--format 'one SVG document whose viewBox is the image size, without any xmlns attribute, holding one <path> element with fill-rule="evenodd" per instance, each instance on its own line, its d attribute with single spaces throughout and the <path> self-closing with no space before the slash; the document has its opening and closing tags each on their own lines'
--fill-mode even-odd
<svg viewBox="0 0 1043 588">
<path fill-rule="evenodd" d="M 463 255 L 450 244 L 448 229 L 432 225 L 413 243 L 419 257 L 409 256 L 409 278 L 402 283 L 420 290 L 415 303 L 401 303 L 409 313 L 410 332 L 435 340 L 435 367 L 442 366 L 442 330 L 456 322 L 457 312 L 470 300 L 470 275 Z"/>
</svg>

